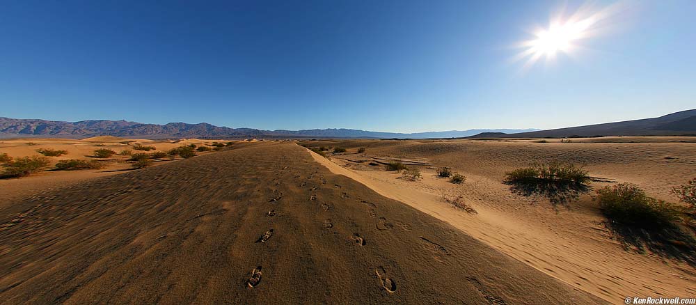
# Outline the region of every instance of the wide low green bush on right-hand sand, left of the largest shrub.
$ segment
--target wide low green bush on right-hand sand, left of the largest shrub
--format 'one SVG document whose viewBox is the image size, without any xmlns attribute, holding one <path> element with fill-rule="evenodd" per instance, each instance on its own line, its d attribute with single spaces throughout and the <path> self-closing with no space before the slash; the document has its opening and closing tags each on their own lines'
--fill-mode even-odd
<svg viewBox="0 0 696 305">
<path fill-rule="evenodd" d="M 551 164 L 532 164 L 530 167 L 515 169 L 505 173 L 506 182 L 559 182 L 585 184 L 590 181 L 587 171 L 574 164 L 552 162 Z"/>
</svg>

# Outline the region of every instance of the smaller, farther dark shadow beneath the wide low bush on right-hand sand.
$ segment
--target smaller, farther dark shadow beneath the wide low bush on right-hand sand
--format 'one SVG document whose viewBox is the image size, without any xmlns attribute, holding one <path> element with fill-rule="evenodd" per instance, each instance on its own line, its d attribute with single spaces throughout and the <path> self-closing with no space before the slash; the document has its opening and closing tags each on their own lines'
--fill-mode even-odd
<svg viewBox="0 0 696 305">
<path fill-rule="evenodd" d="M 590 191 L 590 187 L 583 183 L 559 180 L 512 180 L 505 181 L 505 184 L 510 186 L 510 191 L 525 197 L 546 197 L 554 207 L 567 205 L 569 202 L 577 199 L 580 194 Z"/>
</svg>

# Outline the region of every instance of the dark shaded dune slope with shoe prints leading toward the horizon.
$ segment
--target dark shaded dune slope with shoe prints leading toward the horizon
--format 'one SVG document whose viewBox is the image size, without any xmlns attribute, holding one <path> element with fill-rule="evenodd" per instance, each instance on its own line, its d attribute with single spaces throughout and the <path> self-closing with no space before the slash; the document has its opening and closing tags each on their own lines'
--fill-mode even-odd
<svg viewBox="0 0 696 305">
<path fill-rule="evenodd" d="M 602 302 L 332 174 L 292 143 L 8 206 L 0 304 Z"/>
</svg>

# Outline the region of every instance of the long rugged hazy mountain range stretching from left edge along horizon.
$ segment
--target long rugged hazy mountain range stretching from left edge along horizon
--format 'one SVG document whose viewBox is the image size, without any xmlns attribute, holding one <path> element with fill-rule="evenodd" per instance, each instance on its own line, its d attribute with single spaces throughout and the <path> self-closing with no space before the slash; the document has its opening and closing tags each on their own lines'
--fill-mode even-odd
<svg viewBox="0 0 696 305">
<path fill-rule="evenodd" d="M 143 139 L 180 138 L 374 138 L 374 139 L 427 139 L 471 136 L 480 132 L 529 132 L 528 130 L 450 130 L 447 132 L 419 132 L 414 134 L 394 132 L 370 132 L 366 130 L 256 130 L 252 128 L 230 128 L 208 123 L 168 123 L 165 125 L 143 124 L 126 120 L 81 120 L 63 122 L 54 120 L 0 118 L 0 138 L 15 137 L 63 137 L 87 138 L 91 136 L 122 136 Z"/>
</svg>

